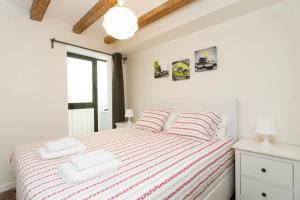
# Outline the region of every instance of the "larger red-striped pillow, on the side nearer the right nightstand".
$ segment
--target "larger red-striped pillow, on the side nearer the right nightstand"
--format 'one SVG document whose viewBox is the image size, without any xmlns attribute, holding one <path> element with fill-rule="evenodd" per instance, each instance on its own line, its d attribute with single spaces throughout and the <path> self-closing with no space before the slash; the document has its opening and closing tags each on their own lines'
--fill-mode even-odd
<svg viewBox="0 0 300 200">
<path fill-rule="evenodd" d="M 186 136 L 201 141 L 209 141 L 221 123 L 221 116 L 214 112 L 181 113 L 167 134 Z"/>
</svg>

